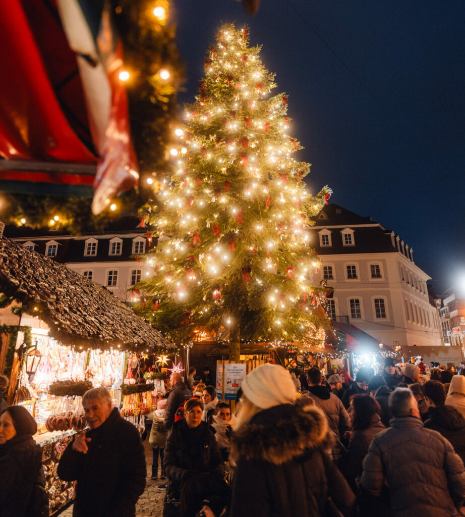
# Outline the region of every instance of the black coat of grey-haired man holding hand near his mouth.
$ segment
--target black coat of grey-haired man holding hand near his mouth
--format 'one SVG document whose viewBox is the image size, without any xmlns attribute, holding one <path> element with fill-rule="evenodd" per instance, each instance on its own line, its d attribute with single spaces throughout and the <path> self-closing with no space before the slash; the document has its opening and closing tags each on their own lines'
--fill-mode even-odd
<svg viewBox="0 0 465 517">
<path fill-rule="evenodd" d="M 70 443 L 58 464 L 61 479 L 77 480 L 73 517 L 133 517 L 147 476 L 139 432 L 115 407 L 86 437 L 86 454 Z"/>
</svg>

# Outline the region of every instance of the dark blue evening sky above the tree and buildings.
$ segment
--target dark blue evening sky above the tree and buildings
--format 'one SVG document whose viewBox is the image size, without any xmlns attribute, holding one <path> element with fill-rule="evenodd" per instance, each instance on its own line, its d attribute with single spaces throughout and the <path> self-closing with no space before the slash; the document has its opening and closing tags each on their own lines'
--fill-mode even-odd
<svg viewBox="0 0 465 517">
<path fill-rule="evenodd" d="M 328 184 L 332 202 L 398 233 L 438 293 L 453 285 L 465 270 L 463 0 L 261 0 L 254 17 L 234 0 L 182 0 L 176 18 L 181 101 L 221 23 L 249 25 L 273 94 L 289 95 L 313 191 Z"/>
</svg>

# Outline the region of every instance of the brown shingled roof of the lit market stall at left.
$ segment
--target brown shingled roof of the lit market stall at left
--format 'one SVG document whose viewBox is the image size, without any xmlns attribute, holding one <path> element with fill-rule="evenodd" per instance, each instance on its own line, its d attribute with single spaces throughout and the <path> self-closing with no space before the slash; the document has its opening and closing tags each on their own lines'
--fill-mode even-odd
<svg viewBox="0 0 465 517">
<path fill-rule="evenodd" d="M 0 237 L 0 303 L 13 299 L 68 345 L 121 349 L 176 346 L 100 284 L 63 264 Z M 36 308 L 36 310 L 35 310 Z"/>
</svg>

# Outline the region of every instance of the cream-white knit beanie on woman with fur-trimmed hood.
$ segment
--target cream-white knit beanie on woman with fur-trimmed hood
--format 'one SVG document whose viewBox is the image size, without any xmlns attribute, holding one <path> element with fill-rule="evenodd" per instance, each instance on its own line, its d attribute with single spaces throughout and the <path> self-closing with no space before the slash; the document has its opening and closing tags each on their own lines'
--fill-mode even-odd
<svg viewBox="0 0 465 517">
<path fill-rule="evenodd" d="M 245 397 L 262 409 L 296 400 L 296 385 L 288 371 L 277 364 L 262 364 L 241 385 Z"/>
</svg>

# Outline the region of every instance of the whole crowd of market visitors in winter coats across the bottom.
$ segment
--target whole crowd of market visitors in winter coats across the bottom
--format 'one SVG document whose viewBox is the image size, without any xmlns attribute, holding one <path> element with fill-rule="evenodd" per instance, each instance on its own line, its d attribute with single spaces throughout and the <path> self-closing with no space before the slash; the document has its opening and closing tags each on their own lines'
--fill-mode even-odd
<svg viewBox="0 0 465 517">
<path fill-rule="evenodd" d="M 173 373 L 150 415 L 164 517 L 465 515 L 465 365 L 445 372 L 390 357 L 354 379 L 263 364 L 234 410 L 195 369 L 186 382 Z M 77 482 L 73 517 L 134 517 L 146 479 L 141 437 L 105 388 L 88 390 L 82 405 L 89 429 L 57 471 Z M 2 516 L 48 515 L 36 432 L 21 406 L 0 415 Z"/>
</svg>

